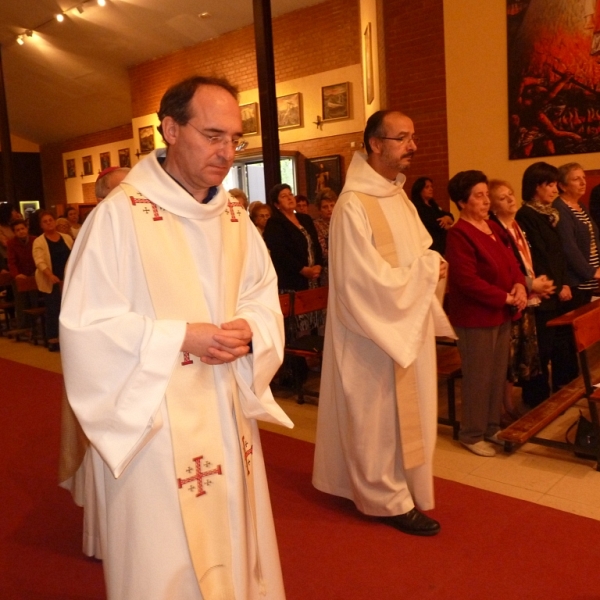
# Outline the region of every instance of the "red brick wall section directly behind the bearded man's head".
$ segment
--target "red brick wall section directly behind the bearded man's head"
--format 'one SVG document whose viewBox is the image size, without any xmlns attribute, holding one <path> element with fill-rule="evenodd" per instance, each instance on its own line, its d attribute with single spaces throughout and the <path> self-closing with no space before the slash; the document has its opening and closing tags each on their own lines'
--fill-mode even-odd
<svg viewBox="0 0 600 600">
<path fill-rule="evenodd" d="M 448 128 L 443 0 L 385 0 L 386 107 L 415 122 L 419 149 L 407 190 L 431 177 L 435 198 L 448 207 Z"/>
</svg>

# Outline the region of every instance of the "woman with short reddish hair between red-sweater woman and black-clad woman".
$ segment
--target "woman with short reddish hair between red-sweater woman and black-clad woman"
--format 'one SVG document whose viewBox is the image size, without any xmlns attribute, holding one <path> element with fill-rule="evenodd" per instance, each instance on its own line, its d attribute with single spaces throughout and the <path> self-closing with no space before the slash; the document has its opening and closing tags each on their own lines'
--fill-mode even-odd
<svg viewBox="0 0 600 600">
<path fill-rule="evenodd" d="M 542 298 L 549 298 L 556 291 L 556 286 L 546 275 L 537 277 L 535 275 L 529 244 L 523 230 L 515 221 L 518 205 L 510 183 L 494 179 L 489 182 L 489 193 L 492 211 L 490 218 L 502 225 L 509 234 L 508 241 L 521 267 L 521 272 L 525 275 L 529 293 L 527 307 L 523 310 L 521 318 L 513 321 L 511 331 L 504 409 L 507 416 L 514 420 L 521 415 L 521 412 L 513 399 L 513 384 L 523 385 L 524 382 L 538 381 L 538 376 L 542 372 L 535 326 L 535 307 L 541 304 Z M 524 400 L 528 399 L 527 395 L 531 387 L 525 384 Z"/>
</svg>

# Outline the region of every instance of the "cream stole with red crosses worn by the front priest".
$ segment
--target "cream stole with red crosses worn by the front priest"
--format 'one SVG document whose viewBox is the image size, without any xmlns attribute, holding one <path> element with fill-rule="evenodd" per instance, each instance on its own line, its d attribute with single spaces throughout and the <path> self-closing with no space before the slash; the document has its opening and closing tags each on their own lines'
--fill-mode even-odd
<svg viewBox="0 0 600 600">
<path fill-rule="evenodd" d="M 129 184 L 121 184 L 131 201 L 137 241 L 157 319 L 210 323 L 211 317 L 195 277 L 196 265 L 182 218 L 158 207 Z M 230 198 L 220 217 L 226 279 L 226 320 L 235 315 L 246 255 L 246 223 L 237 218 Z M 148 210 L 150 208 L 150 210 Z M 244 211 L 245 213 L 245 211 Z M 216 220 L 216 219 L 215 219 Z M 216 226 L 216 223 L 215 223 Z M 220 251 L 221 249 L 217 249 Z M 194 301 L 191 301 L 191 300 Z M 264 589 L 256 531 L 252 468 L 252 429 L 240 405 L 238 385 L 253 395 L 232 365 L 229 375 L 245 471 L 246 505 L 252 516 L 247 539 L 257 557 L 251 570 Z M 187 542 L 198 584 L 205 600 L 233 600 L 231 531 L 228 517 L 227 474 L 218 413 L 214 367 L 197 356 L 181 353 L 166 391 L 176 482 Z M 221 400 L 222 401 L 222 400 Z M 249 553 L 246 553 L 249 555 Z"/>
</svg>

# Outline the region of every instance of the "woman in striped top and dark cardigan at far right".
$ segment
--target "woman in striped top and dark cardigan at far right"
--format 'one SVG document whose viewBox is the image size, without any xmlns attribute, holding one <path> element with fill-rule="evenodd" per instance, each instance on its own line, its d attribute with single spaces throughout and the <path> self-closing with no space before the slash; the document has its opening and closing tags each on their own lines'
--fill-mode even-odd
<svg viewBox="0 0 600 600">
<path fill-rule="evenodd" d="M 592 299 L 600 279 L 598 228 L 579 200 L 585 194 L 585 172 L 578 163 L 558 168 L 560 195 L 552 206 L 560 216 L 556 229 L 567 259 L 567 284 L 573 298 L 569 310 Z"/>
</svg>

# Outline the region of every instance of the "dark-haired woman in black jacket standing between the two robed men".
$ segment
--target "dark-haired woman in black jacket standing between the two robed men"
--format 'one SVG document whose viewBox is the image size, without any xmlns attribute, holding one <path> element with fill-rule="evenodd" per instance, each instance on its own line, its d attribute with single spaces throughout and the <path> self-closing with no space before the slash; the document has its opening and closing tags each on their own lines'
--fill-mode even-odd
<svg viewBox="0 0 600 600">
<path fill-rule="evenodd" d="M 308 215 L 296 213 L 296 198 L 286 183 L 269 193 L 273 215 L 264 240 L 277 272 L 279 292 L 318 287 L 323 264 L 317 230 Z"/>
</svg>

